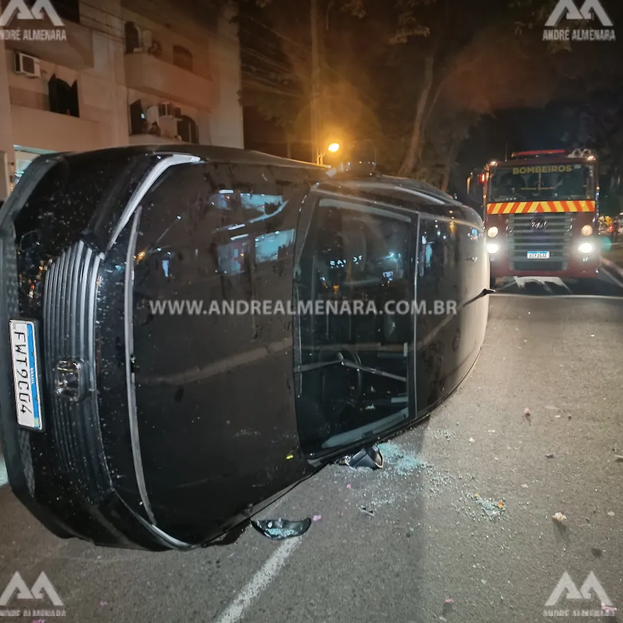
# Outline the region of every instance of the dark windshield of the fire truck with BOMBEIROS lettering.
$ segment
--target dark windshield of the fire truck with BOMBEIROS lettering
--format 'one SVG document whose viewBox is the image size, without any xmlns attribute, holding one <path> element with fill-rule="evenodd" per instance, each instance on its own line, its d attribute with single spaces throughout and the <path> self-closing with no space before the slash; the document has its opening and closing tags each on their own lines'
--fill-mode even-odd
<svg viewBox="0 0 623 623">
<path fill-rule="evenodd" d="M 595 199 L 595 167 L 579 163 L 500 167 L 491 173 L 489 201 Z"/>
</svg>

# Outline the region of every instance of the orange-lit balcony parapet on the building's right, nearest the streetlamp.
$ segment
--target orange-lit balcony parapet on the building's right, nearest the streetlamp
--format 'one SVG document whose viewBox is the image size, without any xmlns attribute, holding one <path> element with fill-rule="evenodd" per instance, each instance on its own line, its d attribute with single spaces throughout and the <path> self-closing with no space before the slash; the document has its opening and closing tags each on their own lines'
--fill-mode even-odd
<svg viewBox="0 0 623 623">
<path fill-rule="evenodd" d="M 125 80 L 129 89 L 149 93 L 165 101 L 204 109 L 211 107 L 211 80 L 145 52 L 125 55 Z"/>
</svg>

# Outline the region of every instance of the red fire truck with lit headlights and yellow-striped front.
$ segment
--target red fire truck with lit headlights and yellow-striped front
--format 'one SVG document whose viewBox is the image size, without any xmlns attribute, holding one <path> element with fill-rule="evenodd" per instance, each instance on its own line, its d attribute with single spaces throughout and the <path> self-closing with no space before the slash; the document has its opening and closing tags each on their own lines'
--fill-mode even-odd
<svg viewBox="0 0 623 623">
<path fill-rule="evenodd" d="M 593 152 L 517 152 L 473 172 L 467 191 L 482 201 L 491 287 L 507 277 L 595 277 L 601 253 Z"/>
</svg>

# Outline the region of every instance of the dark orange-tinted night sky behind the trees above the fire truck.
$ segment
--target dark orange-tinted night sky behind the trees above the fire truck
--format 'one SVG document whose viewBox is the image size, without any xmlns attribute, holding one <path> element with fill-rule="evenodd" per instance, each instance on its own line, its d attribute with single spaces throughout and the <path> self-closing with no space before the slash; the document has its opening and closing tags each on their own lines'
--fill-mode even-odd
<svg viewBox="0 0 623 623">
<path fill-rule="evenodd" d="M 240 18 L 246 147 L 306 161 L 312 153 L 308 3 L 272 0 L 258 7 L 243 1 Z M 416 2 L 407 16 L 416 24 L 413 32 L 429 33 L 400 44 L 388 43 L 404 23 L 399 0 L 361 0 L 363 17 L 352 15 L 350 0 L 318 3 L 324 123 L 336 128 L 331 136 L 372 139 L 382 172 L 395 174 L 402 163 L 401 174 L 439 186 L 446 169 L 447 190 L 454 192 L 464 188 L 471 170 L 513 151 L 587 147 L 599 159 L 602 204 L 619 211 L 620 190 L 613 190 L 623 170 L 619 0 L 603 0 L 615 42 L 575 42 L 568 49 L 543 42 L 554 0 Z M 578 27 L 601 25 L 596 19 L 560 24 Z M 424 59 L 431 54 L 435 73 L 421 147 L 406 172 L 415 111 L 426 87 Z M 449 127 L 453 134 L 446 136 Z"/>
</svg>

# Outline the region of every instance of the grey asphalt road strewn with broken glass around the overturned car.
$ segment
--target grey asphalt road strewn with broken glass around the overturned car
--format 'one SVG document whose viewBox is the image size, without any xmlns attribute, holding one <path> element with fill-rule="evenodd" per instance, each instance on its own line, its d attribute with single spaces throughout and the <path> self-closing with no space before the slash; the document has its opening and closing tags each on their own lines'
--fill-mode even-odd
<svg viewBox="0 0 623 623">
<path fill-rule="evenodd" d="M 186 554 L 100 550 L 47 534 L 3 487 L 0 593 L 44 571 L 77 622 L 525 623 L 568 572 L 558 611 L 623 608 L 622 319 L 608 269 L 500 289 L 469 378 L 382 446 L 382 470 L 329 467 L 262 513 L 320 516 L 298 539 L 249 527 Z"/>
</svg>

